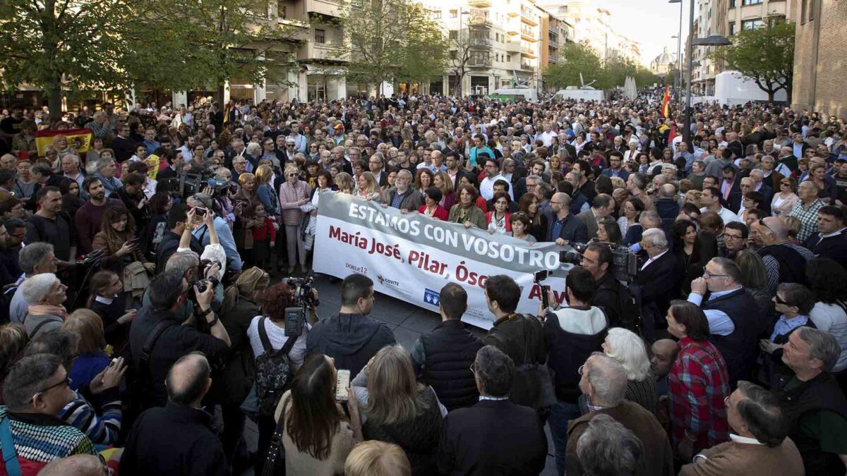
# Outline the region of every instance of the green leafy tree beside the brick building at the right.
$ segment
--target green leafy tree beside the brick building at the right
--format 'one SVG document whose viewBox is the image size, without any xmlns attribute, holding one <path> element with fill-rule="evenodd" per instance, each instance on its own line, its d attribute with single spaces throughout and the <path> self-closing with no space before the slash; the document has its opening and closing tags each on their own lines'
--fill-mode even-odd
<svg viewBox="0 0 847 476">
<path fill-rule="evenodd" d="M 727 69 L 735 69 L 767 92 L 767 100 L 784 89 L 791 99 L 794 78 L 794 23 L 766 19 L 761 28 L 741 30 L 732 46 L 717 47 L 710 58 L 725 61 Z"/>
</svg>

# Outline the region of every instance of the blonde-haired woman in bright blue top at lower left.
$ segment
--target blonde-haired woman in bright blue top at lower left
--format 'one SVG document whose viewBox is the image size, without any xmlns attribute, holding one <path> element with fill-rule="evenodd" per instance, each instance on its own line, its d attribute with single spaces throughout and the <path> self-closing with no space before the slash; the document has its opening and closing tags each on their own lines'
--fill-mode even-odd
<svg viewBox="0 0 847 476">
<path fill-rule="evenodd" d="M 71 388 L 87 388 L 97 374 L 112 362 L 106 352 L 102 319 L 91 309 L 77 309 L 64 320 L 62 330 L 73 332 L 79 337 L 76 346 L 79 357 L 76 357 L 74 367 L 68 373 Z"/>
</svg>

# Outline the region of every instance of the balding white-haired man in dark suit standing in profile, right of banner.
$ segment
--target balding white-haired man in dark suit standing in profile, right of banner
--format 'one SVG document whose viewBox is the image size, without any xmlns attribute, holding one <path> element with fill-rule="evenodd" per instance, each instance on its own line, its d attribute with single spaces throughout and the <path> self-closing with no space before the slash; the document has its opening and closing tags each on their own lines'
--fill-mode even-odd
<svg viewBox="0 0 847 476">
<path fill-rule="evenodd" d="M 682 266 L 676 255 L 668 252 L 667 236 L 661 228 L 644 230 L 639 243 L 648 259 L 641 265 L 633 282 L 632 291 L 641 298 L 641 318 L 645 340 L 656 335 L 656 322 L 667 315 L 671 301 L 679 294 Z"/>
</svg>

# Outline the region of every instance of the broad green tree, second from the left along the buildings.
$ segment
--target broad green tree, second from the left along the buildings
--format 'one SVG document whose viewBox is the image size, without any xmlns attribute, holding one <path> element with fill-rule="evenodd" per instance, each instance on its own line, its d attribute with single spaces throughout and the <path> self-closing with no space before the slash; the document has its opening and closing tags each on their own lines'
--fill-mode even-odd
<svg viewBox="0 0 847 476">
<path fill-rule="evenodd" d="M 297 27 L 276 21 L 268 0 L 147 0 L 143 5 L 125 29 L 130 42 L 144 45 L 125 55 L 133 83 L 174 91 L 200 87 L 222 101 L 227 81 L 280 82 L 294 64 Z"/>
</svg>

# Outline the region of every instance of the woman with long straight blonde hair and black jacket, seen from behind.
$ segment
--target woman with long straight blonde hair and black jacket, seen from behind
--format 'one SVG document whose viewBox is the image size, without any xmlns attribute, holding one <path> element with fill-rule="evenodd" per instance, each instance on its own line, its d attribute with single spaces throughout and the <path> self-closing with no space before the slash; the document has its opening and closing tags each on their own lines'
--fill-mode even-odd
<svg viewBox="0 0 847 476">
<path fill-rule="evenodd" d="M 399 445 L 412 474 L 435 474 L 435 450 L 447 411 L 435 391 L 415 379 L 409 353 L 399 345 L 383 347 L 352 385 L 365 438 Z"/>
</svg>

